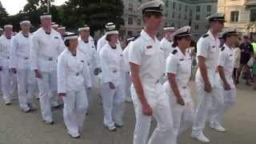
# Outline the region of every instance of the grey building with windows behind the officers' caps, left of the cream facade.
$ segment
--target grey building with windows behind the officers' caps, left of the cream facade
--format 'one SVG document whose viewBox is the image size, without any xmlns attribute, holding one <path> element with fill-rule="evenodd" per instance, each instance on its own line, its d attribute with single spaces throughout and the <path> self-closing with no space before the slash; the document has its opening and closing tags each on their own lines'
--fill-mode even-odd
<svg viewBox="0 0 256 144">
<path fill-rule="evenodd" d="M 150 0 L 123 0 L 125 10 L 123 19 L 125 25 L 121 34 L 129 37 L 142 30 L 142 15 L 138 13 L 138 6 Z M 163 0 L 165 2 L 163 26 L 172 25 L 176 28 L 191 26 L 194 38 L 206 33 L 208 22 L 206 17 L 217 12 L 218 0 Z"/>
</svg>

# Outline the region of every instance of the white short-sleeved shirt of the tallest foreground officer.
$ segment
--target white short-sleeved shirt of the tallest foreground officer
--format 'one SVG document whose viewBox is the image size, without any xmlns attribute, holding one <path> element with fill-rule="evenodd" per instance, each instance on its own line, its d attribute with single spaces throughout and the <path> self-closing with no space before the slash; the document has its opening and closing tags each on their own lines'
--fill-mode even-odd
<svg viewBox="0 0 256 144">
<path fill-rule="evenodd" d="M 155 83 L 165 72 L 165 59 L 158 38 L 150 38 L 142 30 L 141 36 L 130 47 L 129 62 L 140 66 L 142 82 Z"/>
</svg>

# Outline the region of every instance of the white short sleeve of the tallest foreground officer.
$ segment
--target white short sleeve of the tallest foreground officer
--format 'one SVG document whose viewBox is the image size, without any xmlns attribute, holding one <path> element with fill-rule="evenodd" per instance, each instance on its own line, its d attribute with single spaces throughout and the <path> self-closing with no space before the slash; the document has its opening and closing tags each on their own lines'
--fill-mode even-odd
<svg viewBox="0 0 256 144">
<path fill-rule="evenodd" d="M 129 50 L 129 62 L 134 63 L 136 65 L 142 64 L 142 47 L 138 45 L 138 43 L 134 43 L 130 46 Z"/>
</svg>

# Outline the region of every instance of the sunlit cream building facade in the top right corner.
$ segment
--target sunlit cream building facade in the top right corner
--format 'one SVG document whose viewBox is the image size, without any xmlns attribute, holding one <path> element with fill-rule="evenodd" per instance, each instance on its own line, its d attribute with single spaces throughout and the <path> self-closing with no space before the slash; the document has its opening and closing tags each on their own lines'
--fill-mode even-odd
<svg viewBox="0 0 256 144">
<path fill-rule="evenodd" d="M 256 0 L 218 0 L 218 12 L 226 17 L 225 27 L 235 27 L 255 38 Z"/>
</svg>

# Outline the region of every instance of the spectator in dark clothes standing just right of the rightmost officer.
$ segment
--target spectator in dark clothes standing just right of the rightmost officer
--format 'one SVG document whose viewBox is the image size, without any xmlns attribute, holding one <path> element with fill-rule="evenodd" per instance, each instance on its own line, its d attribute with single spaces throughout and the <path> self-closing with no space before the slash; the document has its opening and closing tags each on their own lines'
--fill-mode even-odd
<svg viewBox="0 0 256 144">
<path fill-rule="evenodd" d="M 239 83 L 239 75 L 241 74 L 241 71 L 244 68 L 246 85 L 250 86 L 250 82 L 249 82 L 250 69 L 246 66 L 246 64 L 250 60 L 251 56 L 254 54 L 254 47 L 250 44 L 250 38 L 248 36 L 244 36 L 242 41 L 243 42 L 240 45 L 240 49 L 241 49 L 240 68 L 238 70 L 238 77 L 236 79 L 236 83 Z"/>
</svg>

